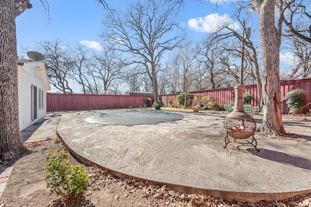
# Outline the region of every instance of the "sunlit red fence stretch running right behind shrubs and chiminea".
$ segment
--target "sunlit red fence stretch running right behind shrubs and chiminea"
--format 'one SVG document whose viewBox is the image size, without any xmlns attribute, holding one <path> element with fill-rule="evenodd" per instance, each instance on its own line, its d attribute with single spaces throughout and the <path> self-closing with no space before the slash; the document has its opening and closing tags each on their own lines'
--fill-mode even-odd
<svg viewBox="0 0 311 207">
<path fill-rule="evenodd" d="M 305 101 L 305 105 L 311 103 L 311 78 L 309 79 L 301 79 L 301 80 L 293 80 L 293 81 L 282 81 L 281 85 L 281 111 L 283 114 L 288 114 L 288 107 L 286 104 L 286 100 L 284 100 L 285 94 L 293 89 L 300 88 L 307 91 L 307 96 L 303 96 Z M 255 101 L 252 101 L 251 104 L 253 106 L 258 106 L 258 94 L 257 94 L 257 85 L 250 85 L 245 86 L 244 92 L 249 92 L 252 96 L 254 96 Z M 205 96 L 213 96 L 217 99 L 218 104 L 228 104 L 230 101 L 234 101 L 235 94 L 234 94 L 234 87 L 228 88 L 216 88 L 210 90 L 200 90 L 200 91 L 193 91 L 191 92 L 196 95 Z M 178 94 L 167 94 L 167 95 L 160 95 L 159 98 L 161 99 L 164 105 L 168 105 L 168 101 L 171 100 L 173 105 L 181 107 L 178 105 L 176 101 L 176 97 Z M 198 103 L 198 100 L 194 100 L 192 103 L 192 107 Z M 303 108 L 303 113 L 307 113 L 311 108 L 311 104 Z"/>
</svg>

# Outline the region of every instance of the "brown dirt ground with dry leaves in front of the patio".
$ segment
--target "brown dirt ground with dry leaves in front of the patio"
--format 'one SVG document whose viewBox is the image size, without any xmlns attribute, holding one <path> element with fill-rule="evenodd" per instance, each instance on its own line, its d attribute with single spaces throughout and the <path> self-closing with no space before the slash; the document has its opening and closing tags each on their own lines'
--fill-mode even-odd
<svg viewBox="0 0 311 207">
<path fill-rule="evenodd" d="M 284 117 L 284 119 L 293 117 Z M 311 120 L 310 117 L 294 117 Z M 311 194 L 291 199 L 257 203 L 214 198 L 209 195 L 185 194 L 134 179 L 122 179 L 96 168 L 85 166 L 89 175 L 86 190 L 77 198 L 50 195 L 44 183 L 49 152 L 66 149 L 56 134 L 50 140 L 25 145 L 32 153 L 18 157 L 0 167 L 13 166 L 12 175 L 0 200 L 0 207 L 311 207 Z M 69 155 L 70 165 L 80 161 Z"/>
</svg>

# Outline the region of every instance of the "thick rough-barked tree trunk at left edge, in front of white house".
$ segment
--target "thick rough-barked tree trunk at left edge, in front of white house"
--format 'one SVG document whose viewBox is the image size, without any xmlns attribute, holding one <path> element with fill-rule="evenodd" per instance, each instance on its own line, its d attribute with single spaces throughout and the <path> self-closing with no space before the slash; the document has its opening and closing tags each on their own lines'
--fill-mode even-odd
<svg viewBox="0 0 311 207">
<path fill-rule="evenodd" d="M 19 132 L 15 24 L 26 8 L 31 8 L 29 0 L 0 0 L 0 159 L 29 152 Z"/>
</svg>

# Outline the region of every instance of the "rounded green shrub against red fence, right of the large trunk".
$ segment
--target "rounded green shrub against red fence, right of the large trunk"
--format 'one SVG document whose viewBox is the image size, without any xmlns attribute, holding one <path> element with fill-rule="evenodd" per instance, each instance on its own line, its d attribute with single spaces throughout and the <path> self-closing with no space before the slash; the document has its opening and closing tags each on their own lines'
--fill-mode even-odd
<svg viewBox="0 0 311 207">
<path fill-rule="evenodd" d="M 285 94 L 284 99 L 287 100 L 286 104 L 290 108 L 289 114 L 298 114 L 302 111 L 301 108 L 304 104 L 304 100 L 301 97 L 302 95 L 306 96 L 307 91 L 300 88 L 290 90 Z"/>
</svg>

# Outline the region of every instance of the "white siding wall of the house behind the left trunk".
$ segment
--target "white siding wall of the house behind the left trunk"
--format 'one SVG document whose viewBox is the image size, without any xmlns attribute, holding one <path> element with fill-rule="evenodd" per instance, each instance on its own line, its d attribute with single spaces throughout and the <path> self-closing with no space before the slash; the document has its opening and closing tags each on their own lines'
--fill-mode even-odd
<svg viewBox="0 0 311 207">
<path fill-rule="evenodd" d="M 43 63 L 41 63 L 43 64 Z M 46 75 L 46 71 L 41 66 L 41 70 L 39 67 L 30 67 L 33 66 L 33 63 L 24 63 L 24 66 L 18 65 L 18 107 L 19 107 L 19 130 L 22 131 L 27 127 L 34 124 L 36 121 L 40 120 L 46 115 L 46 90 L 49 90 L 50 87 L 47 88 L 46 82 L 47 77 L 43 77 Z M 44 70 L 44 71 L 42 71 Z M 48 83 L 49 84 L 49 83 Z M 32 120 L 32 100 L 31 100 L 31 86 L 36 86 L 37 90 L 37 118 Z M 49 85 L 50 86 L 50 85 Z M 43 90 L 43 108 L 39 108 L 39 89 Z"/>
</svg>

